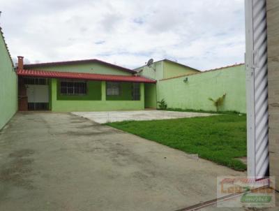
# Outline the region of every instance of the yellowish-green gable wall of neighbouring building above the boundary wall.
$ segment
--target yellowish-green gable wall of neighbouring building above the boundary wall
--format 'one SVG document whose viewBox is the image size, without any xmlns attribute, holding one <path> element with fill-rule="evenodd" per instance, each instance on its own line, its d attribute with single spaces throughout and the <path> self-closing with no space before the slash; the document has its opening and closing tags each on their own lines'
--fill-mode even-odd
<svg viewBox="0 0 279 211">
<path fill-rule="evenodd" d="M 163 61 L 163 66 L 164 66 L 164 78 L 172 78 L 179 75 L 197 73 L 197 71 L 193 70 L 193 68 L 190 67 L 187 68 L 179 64 L 175 64 L 168 61 Z"/>
</svg>

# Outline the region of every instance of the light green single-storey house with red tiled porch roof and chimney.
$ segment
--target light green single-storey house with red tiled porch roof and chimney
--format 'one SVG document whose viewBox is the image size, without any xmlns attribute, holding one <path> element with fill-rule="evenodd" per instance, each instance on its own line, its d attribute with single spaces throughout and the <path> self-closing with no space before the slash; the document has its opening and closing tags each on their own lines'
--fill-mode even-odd
<svg viewBox="0 0 279 211">
<path fill-rule="evenodd" d="M 97 59 L 25 64 L 18 57 L 19 110 L 143 110 L 156 80 Z"/>
</svg>

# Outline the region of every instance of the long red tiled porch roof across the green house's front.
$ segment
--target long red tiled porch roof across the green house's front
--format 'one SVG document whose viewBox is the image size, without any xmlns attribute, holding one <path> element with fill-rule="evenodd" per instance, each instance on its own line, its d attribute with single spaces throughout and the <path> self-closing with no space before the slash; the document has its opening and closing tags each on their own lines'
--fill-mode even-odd
<svg viewBox="0 0 279 211">
<path fill-rule="evenodd" d="M 121 82 L 145 82 L 156 83 L 156 80 L 144 78 L 134 75 L 103 75 L 93 73 L 70 73 L 56 71 L 38 71 L 38 70 L 17 70 L 17 75 L 33 76 L 41 78 L 73 78 L 83 80 L 105 80 L 105 81 L 121 81 Z"/>
</svg>

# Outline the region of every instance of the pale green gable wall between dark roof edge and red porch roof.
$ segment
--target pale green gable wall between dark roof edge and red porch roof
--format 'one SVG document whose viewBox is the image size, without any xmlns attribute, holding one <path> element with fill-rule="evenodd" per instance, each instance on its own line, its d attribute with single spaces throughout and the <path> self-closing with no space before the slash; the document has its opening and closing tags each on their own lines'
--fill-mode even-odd
<svg viewBox="0 0 279 211">
<path fill-rule="evenodd" d="M 30 69 L 38 69 L 42 71 L 61 71 L 61 72 L 74 72 L 74 73 L 96 73 L 96 74 L 110 74 L 110 75 L 133 75 L 126 71 L 121 71 L 118 68 L 105 66 L 98 63 L 89 64 L 68 64 L 63 66 L 42 66 Z"/>
</svg>

